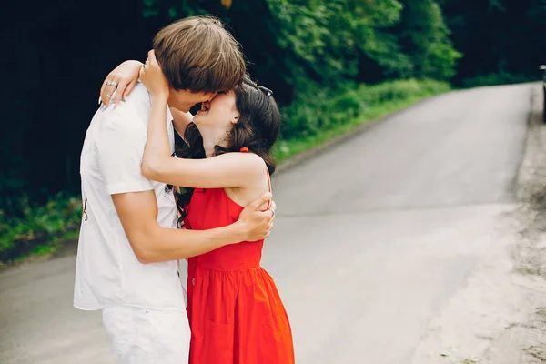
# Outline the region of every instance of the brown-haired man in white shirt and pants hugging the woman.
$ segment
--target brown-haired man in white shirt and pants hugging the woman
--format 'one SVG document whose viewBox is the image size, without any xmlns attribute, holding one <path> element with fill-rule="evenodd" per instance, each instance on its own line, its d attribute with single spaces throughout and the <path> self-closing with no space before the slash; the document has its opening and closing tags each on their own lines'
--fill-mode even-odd
<svg viewBox="0 0 546 364">
<path fill-rule="evenodd" d="M 214 18 L 168 25 L 156 35 L 154 49 L 170 84 L 168 105 L 183 112 L 237 86 L 245 75 L 238 43 Z M 116 83 L 107 81 L 106 86 L 113 92 Z M 136 84 L 130 99 L 102 106 L 87 129 L 74 306 L 103 310 L 122 363 L 179 364 L 187 362 L 190 332 L 177 259 L 265 238 L 274 211 L 258 211 L 270 198 L 267 194 L 231 226 L 175 228 L 172 187 L 140 172 L 150 105 L 146 87 Z M 174 150 L 171 120 L 167 109 Z"/>
</svg>

